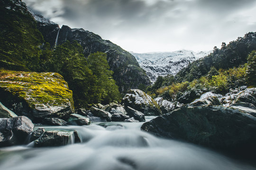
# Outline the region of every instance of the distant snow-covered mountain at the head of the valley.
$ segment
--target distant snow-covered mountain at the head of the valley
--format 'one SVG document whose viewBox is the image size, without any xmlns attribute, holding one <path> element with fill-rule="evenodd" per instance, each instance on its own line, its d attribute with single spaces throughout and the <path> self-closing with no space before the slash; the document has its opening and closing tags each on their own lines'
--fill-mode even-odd
<svg viewBox="0 0 256 170">
<path fill-rule="evenodd" d="M 210 52 L 180 50 L 174 52 L 130 53 L 135 56 L 140 67 L 146 71 L 150 81 L 155 82 L 158 76 L 176 75 L 189 63 L 208 55 Z"/>
</svg>

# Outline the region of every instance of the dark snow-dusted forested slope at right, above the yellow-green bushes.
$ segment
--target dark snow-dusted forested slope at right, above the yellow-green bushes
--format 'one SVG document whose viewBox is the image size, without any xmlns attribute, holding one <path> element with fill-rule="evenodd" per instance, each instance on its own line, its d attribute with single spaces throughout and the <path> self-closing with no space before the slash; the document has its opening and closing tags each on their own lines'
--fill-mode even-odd
<svg viewBox="0 0 256 170">
<path fill-rule="evenodd" d="M 238 67 L 247 62 L 247 56 L 253 50 L 256 50 L 256 32 L 250 32 L 245 34 L 244 37 L 238 37 L 236 41 L 229 42 L 228 45 L 222 42 L 220 49 L 214 47 L 213 52 L 208 56 L 182 68 L 175 78 L 179 82 L 192 81 L 206 75 L 211 67 L 215 67 L 217 70 Z"/>
</svg>

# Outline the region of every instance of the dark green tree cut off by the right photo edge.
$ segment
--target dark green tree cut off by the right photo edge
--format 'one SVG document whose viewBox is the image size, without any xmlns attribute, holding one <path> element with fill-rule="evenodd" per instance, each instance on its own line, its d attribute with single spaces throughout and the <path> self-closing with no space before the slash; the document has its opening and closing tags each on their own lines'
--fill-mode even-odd
<svg viewBox="0 0 256 170">
<path fill-rule="evenodd" d="M 247 82 L 249 85 L 256 86 L 256 51 L 252 51 L 247 60 Z"/>
</svg>

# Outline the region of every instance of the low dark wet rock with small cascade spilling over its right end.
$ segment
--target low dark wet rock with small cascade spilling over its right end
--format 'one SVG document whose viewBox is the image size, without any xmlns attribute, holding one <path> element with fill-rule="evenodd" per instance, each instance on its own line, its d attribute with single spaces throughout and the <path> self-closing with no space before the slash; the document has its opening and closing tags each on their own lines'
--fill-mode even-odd
<svg viewBox="0 0 256 170">
<path fill-rule="evenodd" d="M 34 141 L 35 147 L 63 146 L 72 144 L 73 132 L 46 131 L 39 139 Z"/>
</svg>

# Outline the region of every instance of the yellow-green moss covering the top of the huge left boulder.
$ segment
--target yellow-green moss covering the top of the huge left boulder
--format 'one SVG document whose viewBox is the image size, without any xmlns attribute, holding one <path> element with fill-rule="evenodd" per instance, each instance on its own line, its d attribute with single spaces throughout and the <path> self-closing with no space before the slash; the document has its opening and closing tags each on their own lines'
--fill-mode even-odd
<svg viewBox="0 0 256 170">
<path fill-rule="evenodd" d="M 25 99 L 31 108 L 40 105 L 58 106 L 70 102 L 72 91 L 58 73 L 37 73 L 0 70 L 0 88 Z"/>
</svg>

